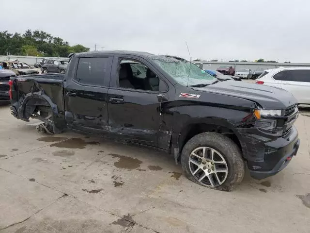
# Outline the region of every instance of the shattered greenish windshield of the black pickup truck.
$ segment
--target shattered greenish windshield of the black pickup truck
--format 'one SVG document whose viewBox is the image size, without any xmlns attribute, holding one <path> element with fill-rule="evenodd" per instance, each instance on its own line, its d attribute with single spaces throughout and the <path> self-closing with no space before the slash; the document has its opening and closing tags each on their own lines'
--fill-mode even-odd
<svg viewBox="0 0 310 233">
<path fill-rule="evenodd" d="M 188 86 L 197 84 L 210 85 L 217 81 L 215 77 L 203 69 L 182 58 L 153 56 L 151 59 L 181 85 L 187 86 L 187 83 Z"/>
</svg>

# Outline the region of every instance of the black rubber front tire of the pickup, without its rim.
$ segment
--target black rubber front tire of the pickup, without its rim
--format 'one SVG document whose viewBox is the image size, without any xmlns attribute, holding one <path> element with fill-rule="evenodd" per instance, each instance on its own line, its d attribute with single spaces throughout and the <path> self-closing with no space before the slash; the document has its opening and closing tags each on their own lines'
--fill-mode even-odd
<svg viewBox="0 0 310 233">
<path fill-rule="evenodd" d="M 209 147 L 217 150 L 224 157 L 228 167 L 227 178 L 224 183 L 216 187 L 210 187 L 200 183 L 191 173 L 189 167 L 189 156 L 193 150 L 199 147 Z M 182 168 L 186 177 L 192 182 L 202 186 L 210 187 L 221 191 L 232 191 L 235 183 L 243 180 L 245 163 L 238 146 L 228 137 L 214 132 L 200 133 L 192 137 L 185 144 L 181 154 Z"/>
</svg>

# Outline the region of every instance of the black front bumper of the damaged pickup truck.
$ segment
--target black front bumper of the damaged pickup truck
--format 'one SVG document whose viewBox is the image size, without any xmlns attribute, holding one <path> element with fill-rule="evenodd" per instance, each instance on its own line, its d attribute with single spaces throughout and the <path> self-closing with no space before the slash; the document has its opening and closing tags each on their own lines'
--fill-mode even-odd
<svg viewBox="0 0 310 233">
<path fill-rule="evenodd" d="M 244 157 L 248 163 L 251 177 L 264 179 L 283 170 L 297 154 L 300 140 L 298 132 L 292 126 L 291 133 L 274 139 L 257 134 L 248 134 L 242 143 Z"/>
</svg>

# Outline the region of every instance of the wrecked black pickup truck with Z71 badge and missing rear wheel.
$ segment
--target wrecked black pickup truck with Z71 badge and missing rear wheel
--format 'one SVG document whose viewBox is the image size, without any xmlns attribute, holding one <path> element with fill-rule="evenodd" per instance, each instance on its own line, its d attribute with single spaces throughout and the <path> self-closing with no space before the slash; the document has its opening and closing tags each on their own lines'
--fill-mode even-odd
<svg viewBox="0 0 310 233">
<path fill-rule="evenodd" d="M 282 170 L 300 141 L 297 101 L 287 91 L 220 82 L 173 56 L 134 51 L 75 54 L 65 74 L 12 77 L 16 118 L 163 150 L 193 182 L 232 190 Z"/>
</svg>

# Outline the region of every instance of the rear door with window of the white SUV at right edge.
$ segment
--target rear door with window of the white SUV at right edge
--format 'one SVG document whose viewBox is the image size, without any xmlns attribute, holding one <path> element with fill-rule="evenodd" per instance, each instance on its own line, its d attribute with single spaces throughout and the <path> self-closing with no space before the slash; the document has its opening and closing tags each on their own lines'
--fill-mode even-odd
<svg viewBox="0 0 310 233">
<path fill-rule="evenodd" d="M 298 103 L 310 104 L 310 70 L 288 70 L 282 88 L 291 92 Z"/>
</svg>

